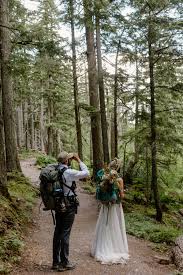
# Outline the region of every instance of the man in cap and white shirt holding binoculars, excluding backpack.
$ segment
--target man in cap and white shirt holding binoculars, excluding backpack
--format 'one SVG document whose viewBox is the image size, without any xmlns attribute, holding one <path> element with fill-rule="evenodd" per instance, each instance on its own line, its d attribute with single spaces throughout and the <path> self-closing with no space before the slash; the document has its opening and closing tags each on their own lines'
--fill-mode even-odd
<svg viewBox="0 0 183 275">
<path fill-rule="evenodd" d="M 72 159 L 78 162 L 80 171 L 69 167 L 69 161 Z M 53 237 L 52 269 L 62 272 L 75 268 L 75 264 L 69 261 L 69 238 L 77 210 L 74 187 L 75 181 L 89 176 L 89 171 L 77 154 L 69 154 L 63 151 L 59 154 L 57 160 L 59 163 L 59 172 L 64 181 L 64 196 L 69 201 L 66 212 L 55 211 L 56 226 Z"/>
</svg>

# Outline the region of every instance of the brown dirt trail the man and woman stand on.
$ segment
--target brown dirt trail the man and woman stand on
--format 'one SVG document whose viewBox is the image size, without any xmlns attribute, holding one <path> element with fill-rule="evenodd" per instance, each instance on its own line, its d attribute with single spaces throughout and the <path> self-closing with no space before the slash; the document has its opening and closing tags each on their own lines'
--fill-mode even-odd
<svg viewBox="0 0 183 275">
<path fill-rule="evenodd" d="M 34 160 L 22 161 L 24 174 L 38 184 L 40 171 L 34 167 Z M 159 255 L 149 247 L 149 243 L 128 236 L 130 260 L 126 265 L 101 265 L 90 257 L 90 244 L 97 220 L 96 201 L 92 195 L 82 192 L 79 187 L 80 208 L 74 222 L 70 240 L 70 258 L 77 262 L 73 271 L 67 275 L 168 275 L 174 274 L 173 265 L 160 265 L 154 256 Z M 58 272 L 50 270 L 52 263 L 52 236 L 54 231 L 52 216 L 49 212 L 39 211 L 39 203 L 34 209 L 34 223 L 25 236 L 25 249 L 20 267 L 11 274 L 41 275 Z"/>
</svg>

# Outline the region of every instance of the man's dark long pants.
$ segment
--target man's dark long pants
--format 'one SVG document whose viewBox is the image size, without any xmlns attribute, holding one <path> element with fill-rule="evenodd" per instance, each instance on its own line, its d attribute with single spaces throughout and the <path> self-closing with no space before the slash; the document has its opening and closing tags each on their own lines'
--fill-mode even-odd
<svg viewBox="0 0 183 275">
<path fill-rule="evenodd" d="M 69 262 L 69 238 L 75 213 L 75 207 L 69 207 L 64 213 L 55 213 L 56 226 L 53 237 L 53 265 L 67 265 Z"/>
</svg>

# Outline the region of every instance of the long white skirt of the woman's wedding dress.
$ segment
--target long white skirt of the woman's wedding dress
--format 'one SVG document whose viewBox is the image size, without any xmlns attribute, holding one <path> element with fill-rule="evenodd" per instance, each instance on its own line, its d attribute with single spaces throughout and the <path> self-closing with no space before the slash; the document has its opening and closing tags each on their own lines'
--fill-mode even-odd
<svg viewBox="0 0 183 275">
<path fill-rule="evenodd" d="M 121 204 L 101 206 L 91 255 L 102 264 L 124 264 L 129 258 L 124 214 Z"/>
</svg>

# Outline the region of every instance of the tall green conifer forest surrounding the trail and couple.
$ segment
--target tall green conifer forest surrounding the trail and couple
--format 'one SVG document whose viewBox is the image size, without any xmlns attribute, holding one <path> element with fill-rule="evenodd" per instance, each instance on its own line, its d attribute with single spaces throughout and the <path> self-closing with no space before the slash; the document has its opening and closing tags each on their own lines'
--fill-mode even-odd
<svg viewBox="0 0 183 275">
<path fill-rule="evenodd" d="M 62 150 L 90 168 L 89 191 L 122 160 L 129 234 L 148 238 L 150 220 L 155 243 L 183 234 L 182 16 L 180 0 L 0 0 L 0 244 L 37 196 L 20 160 Z"/>
</svg>

